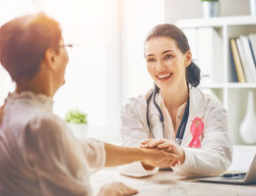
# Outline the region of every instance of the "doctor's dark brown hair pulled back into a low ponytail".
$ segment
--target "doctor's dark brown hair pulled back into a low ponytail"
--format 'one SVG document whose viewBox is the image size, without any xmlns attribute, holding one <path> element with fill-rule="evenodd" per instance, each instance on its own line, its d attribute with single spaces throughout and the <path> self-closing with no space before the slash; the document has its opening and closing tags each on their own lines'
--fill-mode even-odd
<svg viewBox="0 0 256 196">
<path fill-rule="evenodd" d="M 167 37 L 173 39 L 183 54 L 190 50 L 186 35 L 175 25 L 156 25 L 150 31 L 145 43 L 155 37 Z M 186 68 L 187 82 L 196 87 L 199 85 L 200 79 L 200 69 L 194 62 L 191 62 L 191 64 Z"/>
</svg>

